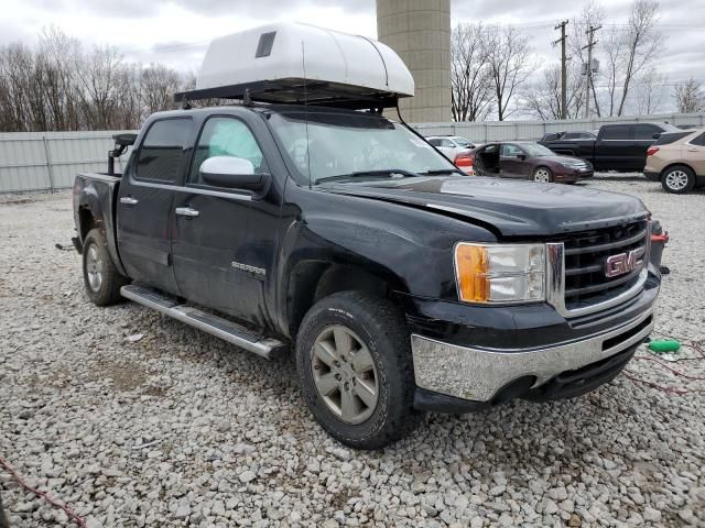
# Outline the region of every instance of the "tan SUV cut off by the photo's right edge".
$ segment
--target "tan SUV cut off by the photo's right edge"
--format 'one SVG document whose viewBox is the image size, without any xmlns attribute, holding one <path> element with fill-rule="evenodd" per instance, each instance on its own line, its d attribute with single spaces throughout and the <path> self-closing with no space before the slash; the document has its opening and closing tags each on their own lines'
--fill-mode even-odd
<svg viewBox="0 0 705 528">
<path fill-rule="evenodd" d="M 705 186 L 705 130 L 662 134 L 647 152 L 643 174 L 676 195 Z"/>
</svg>

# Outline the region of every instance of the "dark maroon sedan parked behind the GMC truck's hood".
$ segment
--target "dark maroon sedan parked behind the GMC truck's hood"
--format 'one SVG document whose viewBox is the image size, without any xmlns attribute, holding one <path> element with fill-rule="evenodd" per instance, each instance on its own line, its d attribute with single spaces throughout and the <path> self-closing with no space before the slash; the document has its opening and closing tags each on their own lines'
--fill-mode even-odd
<svg viewBox="0 0 705 528">
<path fill-rule="evenodd" d="M 593 177 L 589 162 L 557 155 L 530 141 L 488 143 L 474 151 L 473 162 L 477 176 L 566 184 Z"/>
</svg>

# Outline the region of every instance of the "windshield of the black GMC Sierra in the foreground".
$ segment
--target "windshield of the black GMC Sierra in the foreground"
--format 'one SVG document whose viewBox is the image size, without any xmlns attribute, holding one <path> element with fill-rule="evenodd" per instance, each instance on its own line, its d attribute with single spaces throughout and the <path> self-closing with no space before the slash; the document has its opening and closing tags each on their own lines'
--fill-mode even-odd
<svg viewBox="0 0 705 528">
<path fill-rule="evenodd" d="M 299 173 L 295 176 L 306 185 L 345 176 L 392 177 L 391 172 L 457 170 L 424 140 L 379 116 L 283 112 L 272 114 L 269 122 Z"/>
</svg>

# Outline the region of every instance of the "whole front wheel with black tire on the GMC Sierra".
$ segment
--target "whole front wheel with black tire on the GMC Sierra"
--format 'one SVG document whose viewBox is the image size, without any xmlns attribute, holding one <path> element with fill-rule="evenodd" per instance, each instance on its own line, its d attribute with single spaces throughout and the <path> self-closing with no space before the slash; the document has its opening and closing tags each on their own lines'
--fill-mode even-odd
<svg viewBox="0 0 705 528">
<path fill-rule="evenodd" d="M 339 345 L 343 334 L 347 338 L 340 344 L 352 339 L 349 343 L 357 352 L 350 354 L 346 352 L 349 348 Z M 335 358 L 340 360 L 339 369 L 328 366 Z M 355 370 L 356 362 L 368 363 L 368 370 Z M 341 292 L 314 305 L 296 338 L 296 371 L 301 393 L 313 415 L 333 438 L 350 448 L 389 446 L 413 429 L 422 416 L 413 408 L 415 384 L 404 315 L 380 297 Z M 324 385 L 323 380 L 329 382 L 325 385 L 326 395 L 318 388 Z M 372 399 L 371 393 L 376 395 L 373 406 L 366 404 Z M 351 404 L 346 406 L 344 397 Z"/>
</svg>

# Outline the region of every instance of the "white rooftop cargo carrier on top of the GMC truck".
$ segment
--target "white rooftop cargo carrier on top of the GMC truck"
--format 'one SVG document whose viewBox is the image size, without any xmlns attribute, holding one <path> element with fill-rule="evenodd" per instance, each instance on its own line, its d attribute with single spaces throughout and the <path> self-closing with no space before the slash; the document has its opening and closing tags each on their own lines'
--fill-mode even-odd
<svg viewBox="0 0 705 528">
<path fill-rule="evenodd" d="M 409 68 L 384 44 L 308 24 L 275 23 L 214 40 L 196 89 L 175 99 L 387 108 L 413 95 Z"/>
</svg>

